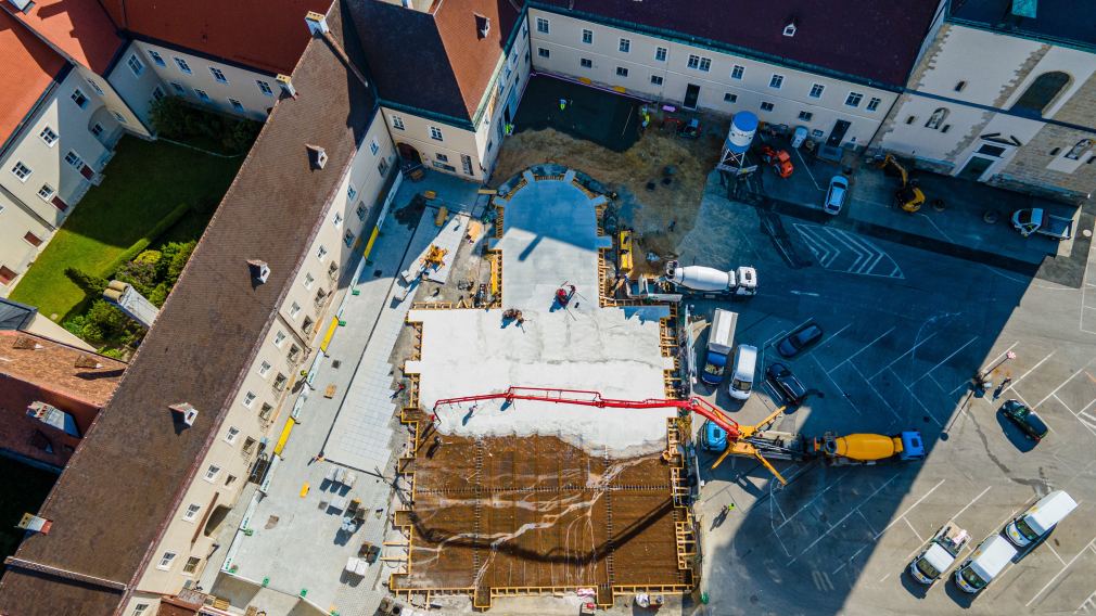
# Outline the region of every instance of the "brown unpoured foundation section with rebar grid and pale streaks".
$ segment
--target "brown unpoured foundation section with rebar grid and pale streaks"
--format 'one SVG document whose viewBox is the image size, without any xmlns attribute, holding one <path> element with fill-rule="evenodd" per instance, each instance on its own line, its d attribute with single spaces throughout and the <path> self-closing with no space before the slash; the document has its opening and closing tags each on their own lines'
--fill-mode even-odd
<svg viewBox="0 0 1096 616">
<path fill-rule="evenodd" d="M 467 592 L 486 608 L 517 593 L 595 589 L 608 605 L 638 589 L 690 589 L 678 559 L 687 510 L 660 455 L 613 459 L 553 436 L 435 436 L 425 427 L 404 463 L 413 504 L 397 523 L 411 548 L 395 592 Z"/>
</svg>

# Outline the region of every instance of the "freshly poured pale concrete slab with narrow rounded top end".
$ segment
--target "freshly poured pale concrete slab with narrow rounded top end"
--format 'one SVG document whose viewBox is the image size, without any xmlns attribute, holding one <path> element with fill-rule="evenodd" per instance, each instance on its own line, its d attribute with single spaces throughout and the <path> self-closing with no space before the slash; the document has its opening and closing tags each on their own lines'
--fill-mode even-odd
<svg viewBox="0 0 1096 616">
<path fill-rule="evenodd" d="M 502 250 L 503 309 L 525 323 L 504 323 L 495 310 L 412 310 L 423 323 L 419 373 L 422 408 L 439 399 L 543 387 L 597 391 L 604 398 L 664 398 L 660 351 L 661 306 L 601 308 L 594 201 L 571 182 L 529 182 L 505 205 Z M 561 285 L 574 285 L 568 308 L 556 304 Z M 558 435 L 614 456 L 665 446 L 674 409 L 598 409 L 569 403 L 501 400 L 436 409 L 442 434 Z"/>
</svg>

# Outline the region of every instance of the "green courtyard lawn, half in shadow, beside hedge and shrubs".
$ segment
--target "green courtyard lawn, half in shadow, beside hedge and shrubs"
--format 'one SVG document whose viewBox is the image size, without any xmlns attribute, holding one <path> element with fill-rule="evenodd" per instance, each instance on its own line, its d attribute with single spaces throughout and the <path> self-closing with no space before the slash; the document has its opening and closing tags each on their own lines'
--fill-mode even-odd
<svg viewBox="0 0 1096 616">
<path fill-rule="evenodd" d="M 242 162 L 243 156 L 219 158 L 162 141 L 123 138 L 103 183 L 76 206 L 11 299 L 64 321 L 84 299 L 65 275 L 66 267 L 110 274 L 103 270 L 116 256 L 183 203 L 202 204 L 204 212 L 187 213 L 163 239 L 197 239 Z"/>
</svg>

